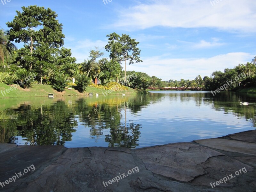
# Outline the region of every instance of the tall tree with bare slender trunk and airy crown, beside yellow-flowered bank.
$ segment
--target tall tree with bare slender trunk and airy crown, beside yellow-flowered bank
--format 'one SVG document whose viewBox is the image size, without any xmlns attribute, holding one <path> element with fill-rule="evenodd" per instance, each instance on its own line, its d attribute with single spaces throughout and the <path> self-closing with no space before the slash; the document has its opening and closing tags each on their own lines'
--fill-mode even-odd
<svg viewBox="0 0 256 192">
<path fill-rule="evenodd" d="M 140 60 L 140 49 L 137 47 L 139 42 L 129 37 L 129 35 L 122 34 L 119 36 L 116 33 L 107 35 L 108 44 L 105 46 L 106 51 L 110 52 L 110 59 L 117 62 L 124 61 L 124 81 L 126 82 L 126 61 L 129 60 L 129 65 L 142 62 Z"/>
</svg>

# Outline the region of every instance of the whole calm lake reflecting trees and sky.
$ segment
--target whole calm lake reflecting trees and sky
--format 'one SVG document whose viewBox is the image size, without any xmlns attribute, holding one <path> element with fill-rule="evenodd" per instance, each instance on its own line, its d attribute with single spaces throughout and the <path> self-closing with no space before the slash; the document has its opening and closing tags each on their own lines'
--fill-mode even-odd
<svg viewBox="0 0 256 192">
<path fill-rule="evenodd" d="M 256 94 L 195 91 L 1 99 L 0 142 L 141 148 L 216 138 L 255 129 L 253 104 Z"/>
</svg>

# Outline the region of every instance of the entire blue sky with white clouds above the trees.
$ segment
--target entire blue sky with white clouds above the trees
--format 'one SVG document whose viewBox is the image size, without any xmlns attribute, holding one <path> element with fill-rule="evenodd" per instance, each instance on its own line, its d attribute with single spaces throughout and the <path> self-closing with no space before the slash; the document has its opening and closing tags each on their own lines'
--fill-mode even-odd
<svg viewBox="0 0 256 192">
<path fill-rule="evenodd" d="M 127 70 L 165 81 L 210 76 L 256 55 L 255 0 L 11 0 L 0 2 L 0 27 L 7 30 L 15 11 L 29 5 L 58 14 L 64 47 L 77 62 L 87 59 L 94 46 L 105 52 L 106 35 L 113 32 L 140 42 L 143 62 Z"/>
</svg>

